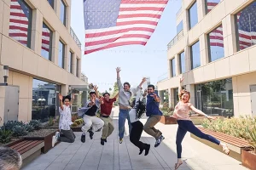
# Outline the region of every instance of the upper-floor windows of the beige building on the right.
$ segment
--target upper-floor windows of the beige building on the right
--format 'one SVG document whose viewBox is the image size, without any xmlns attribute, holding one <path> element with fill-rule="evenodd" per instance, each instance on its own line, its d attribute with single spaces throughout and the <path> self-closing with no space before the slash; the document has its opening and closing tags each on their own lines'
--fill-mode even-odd
<svg viewBox="0 0 256 170">
<path fill-rule="evenodd" d="M 207 2 L 210 2 L 208 0 Z M 212 4 L 213 0 L 211 0 Z M 215 1 L 217 3 L 219 1 Z M 213 7 L 210 7 L 210 3 L 207 3 L 208 11 Z M 217 3 L 218 4 L 218 3 Z M 195 5 L 195 4 L 194 4 Z M 216 4 L 215 4 L 216 5 Z M 196 5 L 195 5 L 196 6 Z M 256 44 L 256 1 L 249 4 L 246 8 L 243 8 L 239 13 L 235 15 L 236 19 L 236 44 L 237 50 L 249 48 Z M 195 22 L 191 22 L 195 23 Z M 192 25 L 191 25 L 192 26 Z M 223 27 L 218 26 L 207 34 L 208 42 L 208 60 L 209 62 L 221 59 L 224 57 L 224 37 L 223 37 Z M 201 66 L 201 55 L 200 55 L 200 44 L 195 42 L 190 46 L 190 60 L 191 60 L 191 70 Z M 172 59 L 170 66 L 171 75 L 175 77 L 177 74 L 175 72 L 175 62 Z M 178 54 L 178 71 L 180 74 L 185 72 L 185 57 L 184 52 Z"/>
</svg>

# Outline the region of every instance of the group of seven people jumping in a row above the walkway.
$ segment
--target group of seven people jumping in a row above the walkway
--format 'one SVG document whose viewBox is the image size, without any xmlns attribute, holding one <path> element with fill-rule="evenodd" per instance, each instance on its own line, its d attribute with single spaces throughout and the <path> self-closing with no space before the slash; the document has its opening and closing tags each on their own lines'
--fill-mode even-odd
<svg viewBox="0 0 256 170">
<path fill-rule="evenodd" d="M 117 72 L 117 84 L 119 88 L 119 93 L 116 94 L 112 99 L 110 94 L 105 93 L 102 96 L 97 94 L 97 87 L 94 86 L 93 90 L 90 91 L 90 100 L 86 102 L 84 107 L 79 109 L 79 116 L 83 117 L 84 126 L 82 127 L 81 142 L 85 142 L 85 136 L 89 133 L 90 139 L 93 139 L 95 132 L 99 132 L 102 129 L 101 144 L 104 145 L 107 142 L 107 138 L 113 133 L 113 120 L 110 117 L 113 103 L 119 98 L 119 144 L 122 144 L 124 134 L 125 134 L 125 121 L 128 120 L 129 133 L 131 143 L 137 146 L 139 149 L 139 155 L 143 153 L 147 156 L 150 150 L 150 144 L 145 144 L 140 141 L 143 130 L 150 136 L 154 137 L 155 144 L 154 147 L 160 145 L 164 138 L 160 130 L 156 129 L 154 126 L 160 122 L 161 116 L 163 115 L 160 111 L 160 97 L 154 92 L 154 85 L 148 85 L 148 89 L 142 92 L 143 83 L 146 82 L 146 78 L 143 78 L 142 82 L 137 86 L 137 88 L 131 88 L 129 82 L 122 84 L 119 76 L 120 68 L 116 68 Z M 180 86 L 178 88 L 179 102 L 175 106 L 174 114 L 172 117 L 177 119 L 177 163 L 175 164 L 175 169 L 183 164 L 181 159 L 182 153 L 182 141 L 185 134 L 189 133 L 195 134 L 195 136 L 201 139 L 207 139 L 214 144 L 222 146 L 226 154 L 230 153 L 229 148 L 226 144 L 218 141 L 218 139 L 213 138 L 211 135 L 202 133 L 189 118 L 189 111 L 195 111 L 196 113 L 206 116 L 209 120 L 214 120 L 215 117 L 207 116 L 200 110 L 197 110 L 195 106 L 189 103 L 190 93 L 182 89 L 183 78 L 180 79 Z M 136 99 L 131 101 L 132 97 L 135 96 Z M 52 139 L 52 145 L 54 147 L 57 141 L 73 143 L 75 140 L 75 135 L 70 127 L 73 123 L 71 118 L 71 105 L 73 102 L 73 95 L 62 96 L 59 95 L 60 99 L 60 122 L 59 128 L 60 132 L 55 133 Z M 100 116 L 96 116 L 97 111 L 100 110 Z M 140 118 L 146 112 L 148 116 L 147 122 L 143 125 L 140 122 Z"/>
</svg>

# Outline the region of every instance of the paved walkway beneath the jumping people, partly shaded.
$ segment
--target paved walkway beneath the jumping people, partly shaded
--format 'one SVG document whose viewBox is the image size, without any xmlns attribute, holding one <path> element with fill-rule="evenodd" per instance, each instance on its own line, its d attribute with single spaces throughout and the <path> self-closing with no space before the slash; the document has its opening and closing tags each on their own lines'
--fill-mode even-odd
<svg viewBox="0 0 256 170">
<path fill-rule="evenodd" d="M 177 125 L 163 125 L 159 128 L 166 139 L 154 148 L 155 139 L 143 132 L 142 140 L 151 144 L 148 156 L 139 156 L 139 150 L 125 137 L 123 144 L 118 138 L 118 111 L 113 111 L 116 129 L 104 146 L 100 144 L 101 133 L 95 133 L 94 139 L 80 141 L 81 133 L 75 133 L 77 139 L 73 144 L 61 143 L 39 156 L 22 170 L 173 170 L 177 161 L 175 136 Z M 146 122 L 146 118 L 142 120 Z M 127 126 L 127 124 L 126 124 Z M 128 128 L 126 128 L 128 129 Z M 127 133 L 126 133 L 127 134 Z M 179 170 L 246 170 L 230 156 L 201 144 L 190 138 L 187 133 L 183 140 L 183 165 Z"/>
</svg>

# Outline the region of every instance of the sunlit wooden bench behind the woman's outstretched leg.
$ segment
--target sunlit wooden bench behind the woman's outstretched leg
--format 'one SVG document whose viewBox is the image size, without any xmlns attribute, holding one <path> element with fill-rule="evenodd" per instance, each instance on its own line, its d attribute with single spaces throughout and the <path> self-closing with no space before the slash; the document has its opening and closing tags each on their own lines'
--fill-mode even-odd
<svg viewBox="0 0 256 170">
<path fill-rule="evenodd" d="M 250 144 L 245 139 L 236 138 L 224 133 L 213 132 L 212 130 L 209 130 L 204 127 L 198 127 L 198 128 L 201 130 L 201 132 L 210 134 L 212 137 L 227 144 L 230 149 L 230 156 L 238 161 L 241 161 L 241 150 L 244 148 L 250 147 Z M 191 137 L 201 141 L 201 143 L 203 144 L 207 144 L 212 148 L 223 152 L 222 147 L 218 146 L 217 144 L 213 144 L 212 142 L 205 139 L 200 139 L 192 133 L 191 133 Z"/>
</svg>

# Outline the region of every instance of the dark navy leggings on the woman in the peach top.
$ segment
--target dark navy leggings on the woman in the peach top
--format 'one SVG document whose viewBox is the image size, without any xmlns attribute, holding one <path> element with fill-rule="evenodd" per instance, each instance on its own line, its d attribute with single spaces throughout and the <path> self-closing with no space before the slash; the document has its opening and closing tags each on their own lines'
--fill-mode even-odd
<svg viewBox="0 0 256 170">
<path fill-rule="evenodd" d="M 197 136 L 198 138 L 209 140 L 214 144 L 218 144 L 218 145 L 220 144 L 218 139 L 213 138 L 209 134 L 202 133 L 201 130 L 195 127 L 192 121 L 178 120 L 177 124 L 178 124 L 177 135 L 176 135 L 177 158 L 181 158 L 182 141 L 187 131 L 189 131 L 189 133 L 195 134 L 195 136 Z"/>
</svg>

